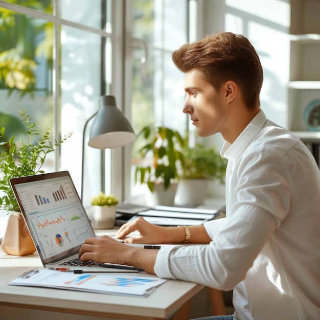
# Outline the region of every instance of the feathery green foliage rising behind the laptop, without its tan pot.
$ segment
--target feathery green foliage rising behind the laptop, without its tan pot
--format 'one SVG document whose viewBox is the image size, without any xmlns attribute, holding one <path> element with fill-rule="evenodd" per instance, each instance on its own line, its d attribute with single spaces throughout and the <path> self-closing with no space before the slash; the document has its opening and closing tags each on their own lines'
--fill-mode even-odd
<svg viewBox="0 0 320 320">
<path fill-rule="evenodd" d="M 0 145 L 6 146 L 7 151 L 0 154 L 0 190 L 5 193 L 0 197 L 0 209 L 10 211 L 20 211 L 19 205 L 14 197 L 10 186 L 10 179 L 13 177 L 34 175 L 44 173 L 41 167 L 48 153 L 54 151 L 55 147 L 60 146 L 72 133 L 64 136 L 64 139 L 50 140 L 51 128 L 45 130 L 37 142 L 34 139 L 40 135 L 37 123 L 31 123 L 31 117 L 25 111 L 20 110 L 22 123 L 26 126 L 26 133 L 29 141 L 24 140 L 15 142 L 15 136 L 7 138 L 5 135 L 6 128 L 1 127 Z"/>
</svg>

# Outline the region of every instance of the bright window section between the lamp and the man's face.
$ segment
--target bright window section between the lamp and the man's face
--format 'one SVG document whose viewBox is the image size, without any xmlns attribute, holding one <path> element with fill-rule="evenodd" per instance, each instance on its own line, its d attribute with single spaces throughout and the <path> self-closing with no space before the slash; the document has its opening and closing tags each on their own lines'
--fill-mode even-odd
<svg viewBox="0 0 320 320">
<path fill-rule="evenodd" d="M 132 79 L 132 126 L 138 133 L 154 123 L 177 129 L 183 136 L 188 129 L 187 117 L 182 113 L 184 74 L 174 65 L 171 54 L 190 39 L 189 32 L 194 35 L 195 2 L 134 0 L 130 12 L 133 53 L 132 74 L 127 77 Z M 131 201 L 143 193 L 141 186 L 134 184 L 138 149 L 139 145 L 133 143 L 131 183 L 127 184 L 127 199 Z"/>
</svg>

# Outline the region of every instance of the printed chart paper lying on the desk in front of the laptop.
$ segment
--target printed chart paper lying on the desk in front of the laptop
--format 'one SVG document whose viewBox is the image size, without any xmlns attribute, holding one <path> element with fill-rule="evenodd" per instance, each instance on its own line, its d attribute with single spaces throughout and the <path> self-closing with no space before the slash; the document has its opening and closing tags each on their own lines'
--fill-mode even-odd
<svg viewBox="0 0 320 320">
<path fill-rule="evenodd" d="M 50 287 L 97 293 L 147 296 L 157 286 L 166 282 L 142 273 L 82 273 L 39 269 L 29 278 L 18 277 L 9 285 Z"/>
</svg>

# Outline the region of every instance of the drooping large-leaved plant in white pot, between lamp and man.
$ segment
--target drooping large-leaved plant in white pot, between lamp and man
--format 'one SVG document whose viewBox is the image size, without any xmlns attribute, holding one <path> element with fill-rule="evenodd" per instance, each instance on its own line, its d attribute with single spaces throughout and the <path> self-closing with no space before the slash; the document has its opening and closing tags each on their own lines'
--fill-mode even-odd
<svg viewBox="0 0 320 320">
<path fill-rule="evenodd" d="M 148 186 L 147 205 L 173 205 L 179 170 L 184 164 L 184 140 L 178 131 L 165 126 L 145 126 L 137 136 L 139 163 L 135 182 Z"/>
</svg>

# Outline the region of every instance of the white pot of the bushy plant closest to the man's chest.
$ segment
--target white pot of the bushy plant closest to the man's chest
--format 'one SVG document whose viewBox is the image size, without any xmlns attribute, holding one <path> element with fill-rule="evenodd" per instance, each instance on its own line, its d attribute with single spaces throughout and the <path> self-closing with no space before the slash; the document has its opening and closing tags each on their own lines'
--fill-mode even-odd
<svg viewBox="0 0 320 320">
<path fill-rule="evenodd" d="M 179 179 L 174 202 L 177 205 L 200 205 L 207 193 L 208 179 Z"/>
</svg>

